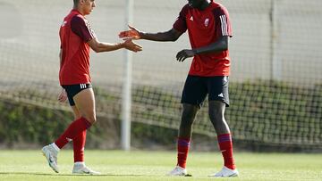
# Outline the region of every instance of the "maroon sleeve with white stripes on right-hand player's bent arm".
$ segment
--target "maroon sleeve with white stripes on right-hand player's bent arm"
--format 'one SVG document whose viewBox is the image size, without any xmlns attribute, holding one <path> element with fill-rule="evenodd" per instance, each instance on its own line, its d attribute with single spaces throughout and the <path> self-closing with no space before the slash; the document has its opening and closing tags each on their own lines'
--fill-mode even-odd
<svg viewBox="0 0 322 181">
<path fill-rule="evenodd" d="M 229 36 L 233 37 L 232 24 L 229 18 L 229 13 L 224 6 L 216 8 L 214 11 L 214 16 L 216 20 L 216 36 L 223 37 Z"/>
</svg>

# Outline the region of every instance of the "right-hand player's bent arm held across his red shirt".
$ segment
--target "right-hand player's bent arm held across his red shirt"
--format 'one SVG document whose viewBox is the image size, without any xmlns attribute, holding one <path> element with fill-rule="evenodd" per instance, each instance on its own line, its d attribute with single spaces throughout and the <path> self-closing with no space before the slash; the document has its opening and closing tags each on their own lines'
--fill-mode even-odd
<svg viewBox="0 0 322 181">
<path fill-rule="evenodd" d="M 183 62 L 185 59 L 189 57 L 193 57 L 196 54 L 202 54 L 202 53 L 217 53 L 217 52 L 222 52 L 228 49 L 228 38 L 227 36 L 220 37 L 216 42 L 199 47 L 196 49 L 184 49 L 177 53 L 176 59 L 179 62 Z"/>
</svg>

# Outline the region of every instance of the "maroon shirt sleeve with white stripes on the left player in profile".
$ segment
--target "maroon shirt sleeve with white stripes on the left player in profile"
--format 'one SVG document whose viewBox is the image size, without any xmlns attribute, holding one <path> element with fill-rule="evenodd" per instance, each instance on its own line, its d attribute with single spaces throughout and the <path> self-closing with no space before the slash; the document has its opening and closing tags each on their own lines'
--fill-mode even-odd
<svg viewBox="0 0 322 181">
<path fill-rule="evenodd" d="M 79 16 L 74 16 L 71 21 L 72 32 L 78 35 L 84 42 L 95 38 L 94 31 L 90 28 L 89 23 L 80 18 Z"/>
</svg>

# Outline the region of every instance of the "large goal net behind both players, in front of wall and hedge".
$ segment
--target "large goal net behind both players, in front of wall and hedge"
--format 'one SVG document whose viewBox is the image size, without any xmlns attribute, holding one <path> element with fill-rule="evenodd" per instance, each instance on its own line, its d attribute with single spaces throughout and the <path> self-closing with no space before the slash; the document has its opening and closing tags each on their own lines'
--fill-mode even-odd
<svg viewBox="0 0 322 181">
<path fill-rule="evenodd" d="M 319 0 L 225 0 L 233 24 L 230 41 L 231 107 L 226 119 L 235 140 L 321 148 L 322 12 Z M 186 1 L 134 2 L 134 26 L 157 32 L 172 28 Z M 97 1 L 89 22 L 99 40 L 119 42 L 123 1 Z M 59 26 L 72 1 L 0 0 L 0 97 L 52 109 L 56 102 Z M 140 41 L 133 55 L 132 121 L 178 128 L 180 97 L 191 60 L 175 54 L 189 48 L 187 35 L 175 43 Z M 91 75 L 97 113 L 120 119 L 123 51 L 92 53 Z M 215 136 L 207 112 L 194 131 Z"/>
</svg>

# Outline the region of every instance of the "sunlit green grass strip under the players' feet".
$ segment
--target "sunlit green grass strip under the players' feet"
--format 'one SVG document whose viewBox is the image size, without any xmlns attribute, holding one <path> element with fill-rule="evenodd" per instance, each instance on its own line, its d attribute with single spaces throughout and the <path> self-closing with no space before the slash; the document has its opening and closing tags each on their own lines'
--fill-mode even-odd
<svg viewBox="0 0 322 181">
<path fill-rule="evenodd" d="M 60 152 L 60 173 L 47 166 L 39 151 L 0 151 L 0 180 L 212 180 L 208 174 L 222 167 L 218 152 L 191 152 L 192 177 L 165 177 L 174 169 L 175 152 L 86 151 L 87 165 L 102 176 L 72 176 L 72 152 Z M 322 154 L 235 153 L 240 177 L 216 180 L 322 180 Z"/>
</svg>

